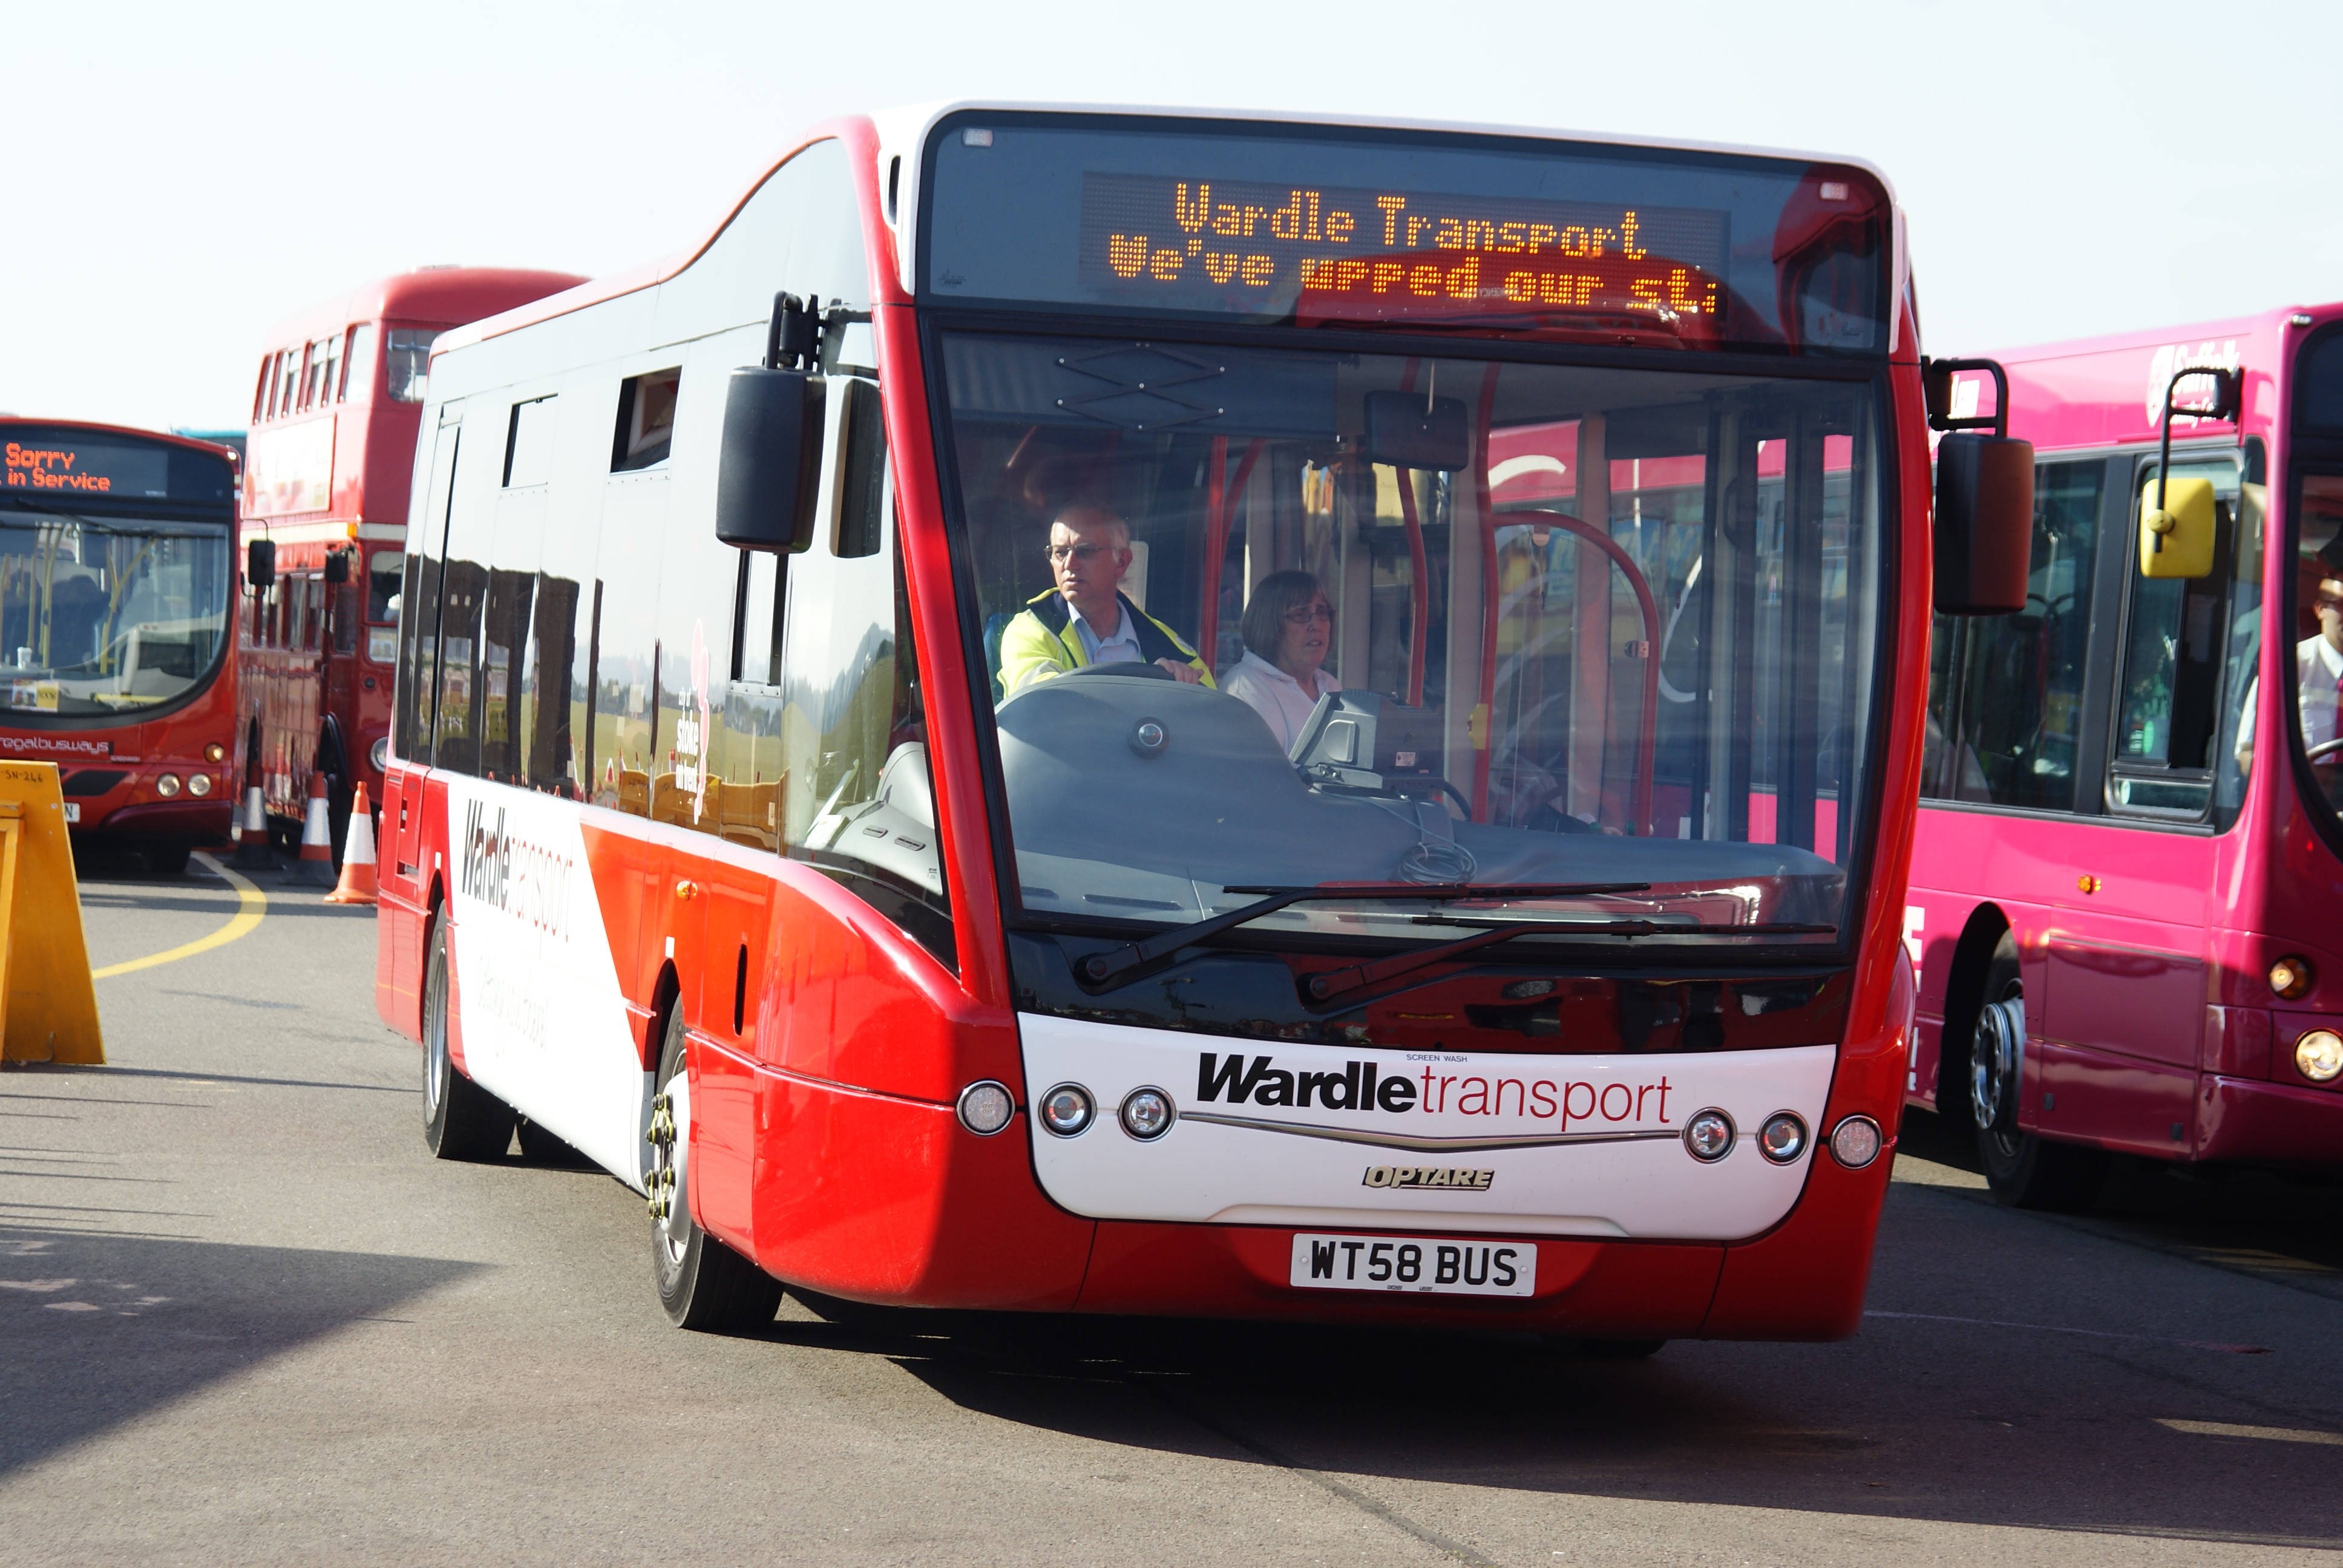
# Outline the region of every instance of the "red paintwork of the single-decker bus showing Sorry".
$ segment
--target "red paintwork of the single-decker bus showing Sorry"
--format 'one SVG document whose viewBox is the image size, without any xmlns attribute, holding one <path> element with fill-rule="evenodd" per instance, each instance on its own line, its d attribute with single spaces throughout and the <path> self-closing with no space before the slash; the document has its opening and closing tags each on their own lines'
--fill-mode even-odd
<svg viewBox="0 0 2343 1568">
<path fill-rule="evenodd" d="M 5 424 L 0 422 L 0 431 L 5 431 Z M 223 452 L 234 462 L 234 452 L 209 441 L 141 431 L 127 424 L 91 424 L 87 420 L 26 420 L 26 424 L 84 429 L 159 445 Z M 234 602 L 230 602 L 230 609 L 234 609 Z M 209 745 L 220 748 L 220 762 L 206 757 Z M 9 724 L 7 710 L 0 708 L 0 762 L 54 762 L 68 780 L 82 769 L 124 773 L 112 790 L 101 795 L 73 795 L 68 790 L 70 799 L 82 806 L 82 820 L 73 832 L 84 837 L 155 839 L 192 844 L 197 848 L 225 844 L 234 827 L 237 795 L 244 780 L 244 773 L 234 771 L 234 656 L 216 666 L 211 682 L 201 691 L 150 720 L 30 729 Z M 164 799 L 155 792 L 155 780 L 162 773 L 178 773 L 180 780 L 206 773 L 213 780 L 213 792 L 194 799 L 183 790 Z"/>
</svg>

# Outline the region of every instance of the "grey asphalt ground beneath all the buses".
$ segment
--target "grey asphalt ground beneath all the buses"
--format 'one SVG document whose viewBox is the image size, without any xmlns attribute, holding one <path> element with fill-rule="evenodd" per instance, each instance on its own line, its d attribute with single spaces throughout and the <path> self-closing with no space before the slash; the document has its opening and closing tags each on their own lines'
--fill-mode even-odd
<svg viewBox="0 0 2343 1568">
<path fill-rule="evenodd" d="M 1907 1123 L 1863 1334 L 1507 1336 L 888 1313 L 679 1334 L 642 1200 L 440 1165 L 375 928 L 98 980 L 0 1073 L 0 1563 L 2245 1563 L 2334 1554 L 2343 1228 L 2275 1177 L 1992 1205 Z M 218 874 L 82 888 L 91 963 Z"/>
</svg>

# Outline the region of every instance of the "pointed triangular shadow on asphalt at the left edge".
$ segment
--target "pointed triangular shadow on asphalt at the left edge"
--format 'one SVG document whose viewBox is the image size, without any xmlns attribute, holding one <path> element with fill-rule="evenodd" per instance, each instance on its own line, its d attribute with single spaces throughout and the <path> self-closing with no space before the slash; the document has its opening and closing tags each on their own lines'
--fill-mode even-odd
<svg viewBox="0 0 2343 1568">
<path fill-rule="evenodd" d="M 478 1268 L 0 1223 L 0 1477 Z"/>
</svg>

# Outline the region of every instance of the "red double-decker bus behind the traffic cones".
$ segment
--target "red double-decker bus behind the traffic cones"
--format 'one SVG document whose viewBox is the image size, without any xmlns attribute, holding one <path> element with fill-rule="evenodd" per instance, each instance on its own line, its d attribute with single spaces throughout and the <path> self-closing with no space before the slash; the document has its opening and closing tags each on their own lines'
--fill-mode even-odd
<svg viewBox="0 0 2343 1568">
<path fill-rule="evenodd" d="M 422 267 L 269 330 L 246 436 L 244 539 L 246 548 L 267 541 L 274 570 L 246 605 L 237 663 L 248 715 L 239 738 L 251 745 L 260 734 L 262 799 L 281 834 L 300 834 L 312 769 L 328 776 L 335 846 L 351 785 L 382 795 L 408 478 L 431 342 L 579 281 Z"/>
</svg>

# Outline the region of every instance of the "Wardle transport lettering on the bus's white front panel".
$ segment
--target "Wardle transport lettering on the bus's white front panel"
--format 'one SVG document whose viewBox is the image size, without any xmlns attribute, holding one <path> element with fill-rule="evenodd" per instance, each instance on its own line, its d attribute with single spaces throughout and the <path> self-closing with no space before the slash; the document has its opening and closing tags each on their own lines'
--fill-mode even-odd
<svg viewBox="0 0 2343 1568">
<path fill-rule="evenodd" d="M 1464 1071 L 1443 1071 L 1464 1069 Z M 1474 1069 L 1441 1059 L 1436 1066 L 1385 1076 L 1378 1062 L 1345 1062 L 1343 1071 L 1289 1071 L 1277 1057 L 1197 1052 L 1195 1097 L 1200 1104 L 1314 1106 L 1326 1111 L 1382 1111 L 1387 1116 L 1488 1116 L 1525 1127 L 1657 1130 L 1668 1125 L 1675 1085 L 1612 1078 L 1532 1078 Z"/>
</svg>

